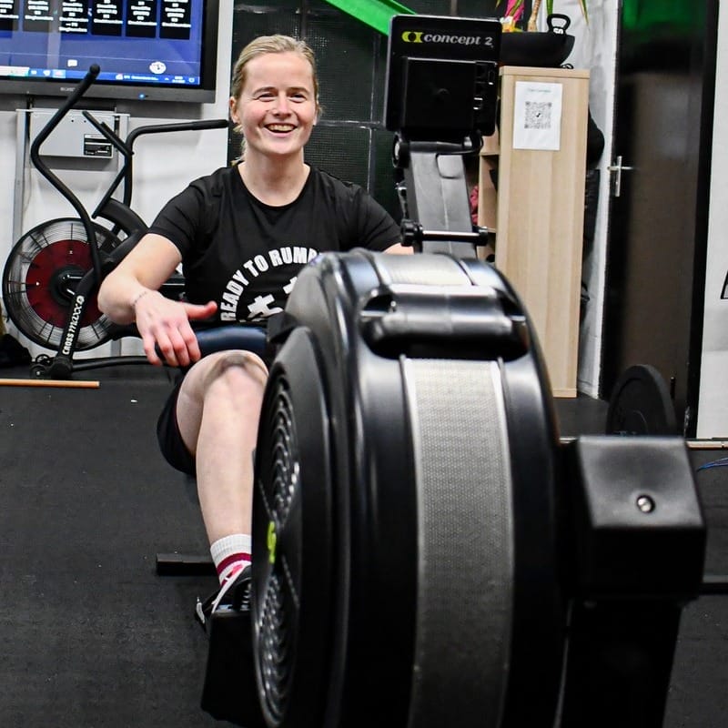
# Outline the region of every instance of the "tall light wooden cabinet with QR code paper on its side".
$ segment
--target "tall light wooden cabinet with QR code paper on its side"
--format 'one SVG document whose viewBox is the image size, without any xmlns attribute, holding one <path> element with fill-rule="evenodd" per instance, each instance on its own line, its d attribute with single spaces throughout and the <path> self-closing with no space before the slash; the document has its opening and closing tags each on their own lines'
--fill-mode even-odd
<svg viewBox="0 0 728 728">
<path fill-rule="evenodd" d="M 522 146 L 529 126 L 522 99 L 533 88 L 560 99 L 556 149 L 532 148 L 541 144 L 532 134 L 531 148 L 514 148 L 514 131 Z M 496 230 L 495 266 L 533 321 L 557 397 L 577 393 L 588 115 L 588 71 L 504 66 L 500 140 L 490 138 L 480 152 L 479 224 Z"/>
</svg>

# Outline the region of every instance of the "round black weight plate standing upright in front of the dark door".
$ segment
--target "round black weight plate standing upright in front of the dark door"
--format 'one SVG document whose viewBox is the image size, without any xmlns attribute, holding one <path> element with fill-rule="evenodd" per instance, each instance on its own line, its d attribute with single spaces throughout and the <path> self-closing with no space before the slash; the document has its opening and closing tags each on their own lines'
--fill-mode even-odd
<svg viewBox="0 0 728 728">
<path fill-rule="evenodd" d="M 649 364 L 626 369 L 612 390 L 608 435 L 676 435 L 675 409 L 660 372 Z"/>
</svg>

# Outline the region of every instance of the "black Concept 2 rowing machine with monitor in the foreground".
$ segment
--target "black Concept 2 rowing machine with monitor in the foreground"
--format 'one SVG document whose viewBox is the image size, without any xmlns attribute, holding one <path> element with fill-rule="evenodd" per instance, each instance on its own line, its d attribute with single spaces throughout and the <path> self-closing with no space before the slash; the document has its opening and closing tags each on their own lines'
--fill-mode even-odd
<svg viewBox="0 0 728 728">
<path fill-rule="evenodd" d="M 255 680 L 244 695 L 221 668 L 238 710 L 217 717 L 662 725 L 702 508 L 679 438 L 560 440 L 528 313 L 470 248 L 453 152 L 492 128 L 499 42 L 490 20 L 391 20 L 420 255 L 325 254 L 298 277 L 256 450 Z"/>
</svg>

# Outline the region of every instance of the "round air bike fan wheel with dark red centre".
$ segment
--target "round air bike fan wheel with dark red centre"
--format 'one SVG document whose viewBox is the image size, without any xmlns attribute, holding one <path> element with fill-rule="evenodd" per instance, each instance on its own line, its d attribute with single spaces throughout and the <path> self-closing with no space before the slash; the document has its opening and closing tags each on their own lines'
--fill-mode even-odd
<svg viewBox="0 0 728 728">
<path fill-rule="evenodd" d="M 96 225 L 96 244 L 110 253 L 118 239 Z M 5 308 L 28 339 L 57 350 L 77 282 L 93 269 L 86 229 L 80 219 L 60 217 L 34 227 L 10 252 L 3 272 Z M 86 303 L 76 350 L 93 349 L 109 339 L 111 321 L 99 311 L 96 298 Z"/>
</svg>

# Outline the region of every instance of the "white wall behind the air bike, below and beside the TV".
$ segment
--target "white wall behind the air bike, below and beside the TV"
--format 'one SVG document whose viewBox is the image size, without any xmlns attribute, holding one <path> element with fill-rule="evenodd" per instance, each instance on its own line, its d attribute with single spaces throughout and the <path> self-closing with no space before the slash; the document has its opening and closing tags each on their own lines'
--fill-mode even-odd
<svg viewBox="0 0 728 728">
<path fill-rule="evenodd" d="M 227 117 L 232 15 L 233 0 L 220 0 L 215 102 L 202 105 L 157 102 L 153 106 L 147 106 L 143 102 L 119 102 L 116 111 L 130 114 L 129 130 L 148 124 Z M 36 103 L 36 106 L 44 107 L 45 104 Z M 13 202 L 16 108 L 25 108 L 25 97 L 5 96 L 0 99 L 0 159 L 5 171 L 0 176 L 0 267 L 5 266 L 5 259 L 15 244 Z M 227 164 L 227 129 L 142 136 L 139 137 L 135 150 L 132 206 L 147 222 L 151 222 L 158 209 L 169 197 L 185 187 L 187 182 Z M 113 178 L 115 169 L 99 171 L 96 167 L 94 171 L 84 171 L 54 167 L 54 172 L 73 190 L 87 209 L 93 210 Z M 76 217 L 73 208 L 28 162 L 25 168 L 21 229 L 25 232 L 53 217 L 66 215 Z M 43 351 L 18 335 L 12 324 L 8 324 L 7 328 L 31 349 L 34 356 Z M 135 344 L 136 342 L 125 342 L 125 347 L 132 349 L 128 353 L 137 352 L 138 347 Z M 106 356 L 106 353 L 108 346 L 93 349 L 87 355 Z M 124 353 L 127 353 L 126 349 Z"/>
</svg>

